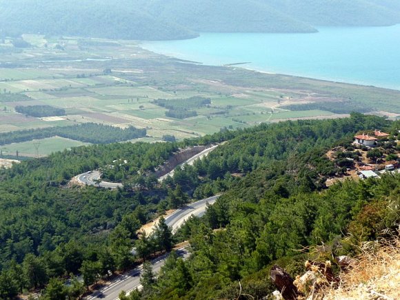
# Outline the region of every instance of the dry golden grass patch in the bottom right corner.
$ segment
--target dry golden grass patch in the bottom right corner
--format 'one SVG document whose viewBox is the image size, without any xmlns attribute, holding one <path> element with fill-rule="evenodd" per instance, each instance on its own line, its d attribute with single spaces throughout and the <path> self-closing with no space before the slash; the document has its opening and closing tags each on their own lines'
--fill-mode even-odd
<svg viewBox="0 0 400 300">
<path fill-rule="evenodd" d="M 399 237 L 390 245 L 366 243 L 363 254 L 354 259 L 350 271 L 342 274 L 339 288 L 324 290 L 320 297 L 328 300 L 400 299 Z"/>
</svg>

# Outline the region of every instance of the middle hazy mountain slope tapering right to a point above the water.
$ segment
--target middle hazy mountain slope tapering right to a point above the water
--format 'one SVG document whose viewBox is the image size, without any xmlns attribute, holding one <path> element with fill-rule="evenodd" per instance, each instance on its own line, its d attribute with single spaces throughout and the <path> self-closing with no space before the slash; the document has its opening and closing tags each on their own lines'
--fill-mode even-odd
<svg viewBox="0 0 400 300">
<path fill-rule="evenodd" d="M 312 26 L 253 0 L 154 0 L 149 13 L 199 32 L 315 32 Z"/>
</svg>

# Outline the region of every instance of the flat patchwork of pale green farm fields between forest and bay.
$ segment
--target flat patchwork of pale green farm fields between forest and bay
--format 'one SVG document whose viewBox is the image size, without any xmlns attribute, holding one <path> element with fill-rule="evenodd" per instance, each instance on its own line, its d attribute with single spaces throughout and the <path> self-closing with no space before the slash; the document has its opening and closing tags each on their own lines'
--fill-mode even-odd
<svg viewBox="0 0 400 300">
<path fill-rule="evenodd" d="M 186 139 L 221 128 L 346 116 L 323 108 L 284 109 L 315 102 L 340 106 L 341 101 L 352 101 L 354 105 L 370 107 L 371 113 L 400 116 L 400 92 L 395 90 L 263 74 L 236 67 L 201 66 L 143 50 L 134 41 L 46 39 L 32 34 L 23 38 L 32 48 L 0 56 L 0 132 L 101 123 L 146 128 L 147 136 L 138 140 L 153 142 L 160 141 L 165 134 Z M 188 108 L 197 115 L 186 119 L 166 117 L 168 109 L 154 102 L 190 97 L 207 98 L 210 103 Z M 377 103 L 379 108 L 375 107 Z M 62 108 L 66 115 L 35 118 L 14 109 L 37 105 Z M 44 139 L 39 155 L 79 145 L 82 143 L 57 137 Z M 1 150 L 18 150 L 27 156 L 38 154 L 32 142 L 2 146 Z"/>
</svg>

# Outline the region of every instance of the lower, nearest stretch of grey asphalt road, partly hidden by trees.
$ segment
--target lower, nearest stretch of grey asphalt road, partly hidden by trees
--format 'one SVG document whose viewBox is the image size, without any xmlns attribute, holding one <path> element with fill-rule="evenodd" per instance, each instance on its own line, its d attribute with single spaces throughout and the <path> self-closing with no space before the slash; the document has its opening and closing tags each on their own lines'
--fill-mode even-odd
<svg viewBox="0 0 400 300">
<path fill-rule="evenodd" d="M 168 217 L 166 217 L 166 223 L 172 231 L 176 231 L 182 224 L 190 218 L 190 216 L 194 215 L 197 217 L 201 217 L 207 208 L 207 203 L 214 204 L 219 196 L 213 196 L 207 199 L 203 199 L 194 203 L 190 203 L 179 210 L 176 210 Z M 179 249 L 178 254 L 182 257 L 188 257 L 188 252 L 182 248 Z M 158 257 L 152 261 L 153 271 L 154 273 L 159 272 L 161 266 L 163 266 L 164 261 L 168 257 L 168 254 L 163 255 L 162 257 Z M 115 300 L 118 299 L 119 293 L 124 290 L 126 292 L 130 292 L 135 288 L 140 288 L 140 274 L 141 274 L 142 266 L 131 270 L 126 274 L 122 274 L 119 277 L 115 278 L 110 285 L 97 290 L 90 296 L 86 297 L 86 300 L 92 299 L 106 299 L 106 300 Z"/>
</svg>

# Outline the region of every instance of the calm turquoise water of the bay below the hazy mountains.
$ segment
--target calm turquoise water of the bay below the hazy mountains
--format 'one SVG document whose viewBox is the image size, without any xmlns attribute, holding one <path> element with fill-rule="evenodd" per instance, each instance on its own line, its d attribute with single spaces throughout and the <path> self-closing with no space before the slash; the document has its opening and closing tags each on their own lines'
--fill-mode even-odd
<svg viewBox="0 0 400 300">
<path fill-rule="evenodd" d="M 314 34 L 203 33 L 142 46 L 209 65 L 251 62 L 241 67 L 400 90 L 400 25 Z"/>
</svg>

